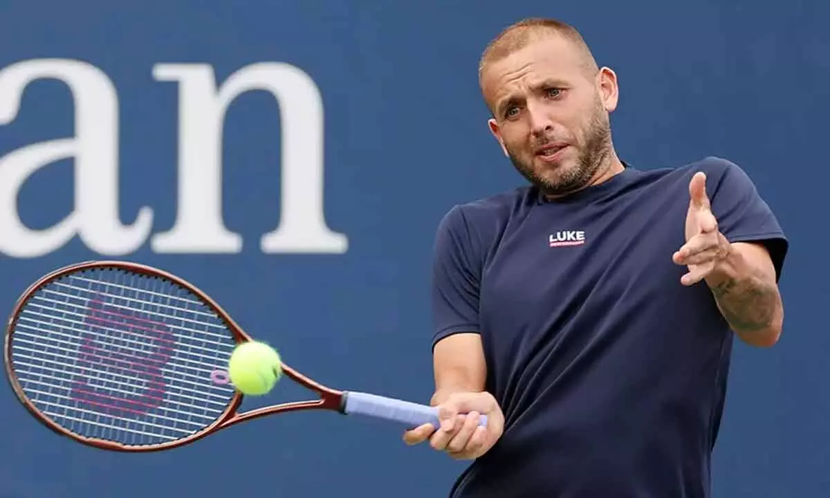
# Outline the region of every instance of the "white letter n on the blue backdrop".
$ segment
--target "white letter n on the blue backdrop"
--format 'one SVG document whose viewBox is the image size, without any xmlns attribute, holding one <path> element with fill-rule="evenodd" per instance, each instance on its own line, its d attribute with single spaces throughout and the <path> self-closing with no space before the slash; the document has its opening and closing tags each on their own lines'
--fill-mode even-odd
<svg viewBox="0 0 830 498">
<path fill-rule="evenodd" d="M 237 96 L 266 90 L 281 120 L 281 218 L 261 239 L 266 253 L 346 251 L 344 234 L 326 226 L 323 210 L 323 103 L 315 82 L 295 66 L 263 62 L 235 72 L 217 91 L 211 66 L 159 64 L 158 81 L 178 81 L 178 215 L 153 237 L 159 252 L 239 252 L 242 237 L 222 220 L 222 127 Z"/>
</svg>

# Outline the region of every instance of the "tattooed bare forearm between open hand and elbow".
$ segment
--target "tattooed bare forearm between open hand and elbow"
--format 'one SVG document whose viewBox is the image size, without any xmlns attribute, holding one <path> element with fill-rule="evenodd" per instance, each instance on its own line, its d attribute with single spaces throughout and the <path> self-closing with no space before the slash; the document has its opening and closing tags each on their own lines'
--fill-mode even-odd
<svg viewBox="0 0 830 498">
<path fill-rule="evenodd" d="M 720 312 L 745 342 L 771 346 L 779 339 L 784 307 L 774 270 L 730 246 L 706 283 Z"/>
</svg>

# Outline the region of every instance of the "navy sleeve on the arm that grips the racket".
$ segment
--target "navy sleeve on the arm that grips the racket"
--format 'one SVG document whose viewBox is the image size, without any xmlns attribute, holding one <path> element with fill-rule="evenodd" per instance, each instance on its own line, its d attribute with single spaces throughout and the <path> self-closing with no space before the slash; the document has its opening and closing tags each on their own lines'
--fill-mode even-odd
<svg viewBox="0 0 830 498">
<path fill-rule="evenodd" d="M 460 332 L 479 332 L 481 259 L 460 206 L 438 225 L 432 261 L 432 347 Z"/>
</svg>

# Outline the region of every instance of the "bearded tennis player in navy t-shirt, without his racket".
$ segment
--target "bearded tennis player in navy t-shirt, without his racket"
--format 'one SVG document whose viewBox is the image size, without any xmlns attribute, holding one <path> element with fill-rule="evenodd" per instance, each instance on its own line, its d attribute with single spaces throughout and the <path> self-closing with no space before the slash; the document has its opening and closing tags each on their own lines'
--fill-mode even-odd
<svg viewBox="0 0 830 498">
<path fill-rule="evenodd" d="M 442 422 L 405 441 L 475 459 L 456 497 L 709 496 L 733 334 L 760 347 L 781 334 L 788 242 L 774 214 L 724 159 L 618 159 L 617 76 L 562 22 L 502 32 L 480 84 L 530 186 L 440 224 Z"/>
</svg>

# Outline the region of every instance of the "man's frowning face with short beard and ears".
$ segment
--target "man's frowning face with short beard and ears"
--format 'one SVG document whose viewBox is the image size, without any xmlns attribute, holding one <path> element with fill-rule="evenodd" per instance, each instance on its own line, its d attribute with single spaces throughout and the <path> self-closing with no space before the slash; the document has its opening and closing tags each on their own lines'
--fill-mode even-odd
<svg viewBox="0 0 830 498">
<path fill-rule="evenodd" d="M 608 113 L 617 81 L 603 68 L 589 74 L 573 42 L 538 37 L 482 74 L 495 119 L 492 133 L 515 168 L 544 193 L 562 194 L 591 182 L 611 151 Z"/>
</svg>

